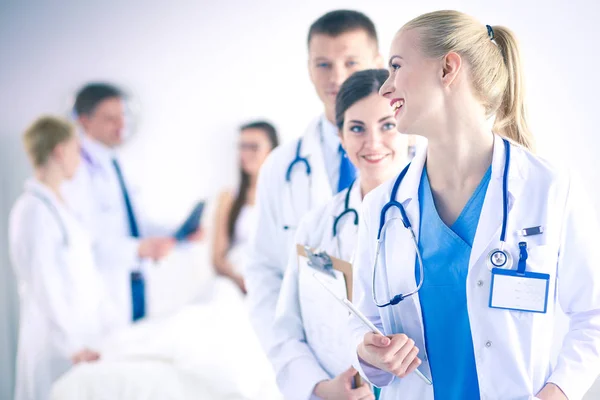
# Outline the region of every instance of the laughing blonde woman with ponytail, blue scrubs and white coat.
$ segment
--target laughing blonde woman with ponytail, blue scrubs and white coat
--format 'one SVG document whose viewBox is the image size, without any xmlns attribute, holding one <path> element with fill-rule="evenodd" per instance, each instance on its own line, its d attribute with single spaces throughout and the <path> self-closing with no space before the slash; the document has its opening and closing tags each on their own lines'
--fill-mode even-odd
<svg viewBox="0 0 600 400">
<path fill-rule="evenodd" d="M 354 366 L 383 399 L 581 399 L 600 371 L 600 231 L 577 181 L 531 152 L 514 35 L 425 14 L 389 68 L 398 130 L 428 145 L 364 200 L 354 301 L 386 336 L 352 318 Z"/>
</svg>

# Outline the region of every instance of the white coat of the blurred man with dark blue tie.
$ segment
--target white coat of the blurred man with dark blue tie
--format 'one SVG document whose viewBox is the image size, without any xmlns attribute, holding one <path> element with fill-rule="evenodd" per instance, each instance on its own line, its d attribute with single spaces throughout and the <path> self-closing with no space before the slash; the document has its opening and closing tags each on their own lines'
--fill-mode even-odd
<svg viewBox="0 0 600 400">
<path fill-rule="evenodd" d="M 130 236 L 123 193 L 112 165 L 116 153 L 85 135 L 81 147 L 83 163 L 76 176 L 65 183 L 62 193 L 93 236 L 95 262 L 111 298 L 119 307 L 121 325 L 126 326 L 132 315 L 130 274 L 145 267 L 138 257 L 139 239 Z M 126 175 L 125 171 L 123 174 Z M 136 208 L 136 191 L 126 176 L 124 179 L 141 236 L 167 234 L 148 227 L 147 218 Z M 152 229 L 155 232 L 151 232 Z M 148 307 L 146 309 L 148 311 Z"/>
</svg>

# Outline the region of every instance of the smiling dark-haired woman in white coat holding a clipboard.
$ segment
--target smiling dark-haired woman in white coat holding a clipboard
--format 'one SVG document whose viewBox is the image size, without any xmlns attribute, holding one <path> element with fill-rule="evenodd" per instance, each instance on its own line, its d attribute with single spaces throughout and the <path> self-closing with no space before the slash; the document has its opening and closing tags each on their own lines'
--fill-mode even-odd
<svg viewBox="0 0 600 400">
<path fill-rule="evenodd" d="M 296 233 L 296 243 L 350 263 L 362 198 L 407 163 L 407 137 L 396 130 L 389 101 L 378 93 L 387 76 L 382 69 L 360 71 L 342 85 L 336 102 L 336 125 L 360 178 L 327 204 L 311 210 Z M 275 321 L 275 330 L 284 341 L 271 352 L 282 393 L 290 400 L 374 398 L 366 384 L 353 388 L 356 370 L 344 343 L 347 311 L 334 306 L 326 310 L 326 316 L 310 312 L 315 310 L 309 304 L 314 286 L 302 278 L 310 275 L 310 268 L 298 265 L 295 249 L 291 253 Z M 331 301 L 335 302 L 333 297 Z M 340 324 L 334 329 L 331 321 Z M 331 335 L 323 336 L 320 326 L 325 324 Z"/>
</svg>

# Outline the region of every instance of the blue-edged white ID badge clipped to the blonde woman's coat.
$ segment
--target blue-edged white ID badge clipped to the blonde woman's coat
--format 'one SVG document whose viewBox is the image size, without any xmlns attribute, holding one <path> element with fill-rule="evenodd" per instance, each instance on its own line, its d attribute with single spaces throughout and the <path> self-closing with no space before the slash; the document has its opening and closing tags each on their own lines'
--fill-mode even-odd
<svg viewBox="0 0 600 400">
<path fill-rule="evenodd" d="M 492 269 L 490 308 L 546 313 L 550 275 Z"/>
</svg>

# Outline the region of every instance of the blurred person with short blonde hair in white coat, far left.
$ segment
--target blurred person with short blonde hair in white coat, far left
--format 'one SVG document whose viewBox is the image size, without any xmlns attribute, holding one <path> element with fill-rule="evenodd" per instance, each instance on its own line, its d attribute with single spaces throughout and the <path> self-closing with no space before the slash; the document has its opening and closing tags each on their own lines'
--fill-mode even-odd
<svg viewBox="0 0 600 400">
<path fill-rule="evenodd" d="M 19 285 L 16 400 L 49 398 L 52 383 L 114 327 L 116 310 L 92 257 L 90 237 L 60 194 L 80 163 L 75 128 L 42 117 L 26 131 L 35 168 L 9 221 L 10 255 Z"/>
</svg>

